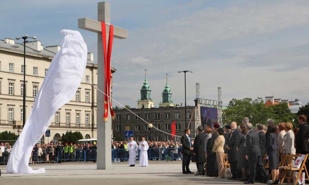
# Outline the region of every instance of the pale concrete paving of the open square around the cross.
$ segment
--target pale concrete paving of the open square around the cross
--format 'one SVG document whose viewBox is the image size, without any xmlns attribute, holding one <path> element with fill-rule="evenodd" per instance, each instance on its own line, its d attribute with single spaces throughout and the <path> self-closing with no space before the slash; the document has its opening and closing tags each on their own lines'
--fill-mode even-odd
<svg viewBox="0 0 309 185">
<path fill-rule="evenodd" d="M 115 162 L 110 170 L 98 170 L 94 162 L 64 162 L 57 164 L 32 164 L 32 168 L 45 168 L 46 173 L 11 174 L 6 166 L 0 165 L 2 176 L 0 185 L 95 185 L 95 184 L 243 184 L 226 178 L 195 176 L 182 174 L 181 161 L 149 161 L 148 167 L 138 163 L 129 167 L 128 162 Z M 191 171 L 196 171 L 195 163 L 190 164 Z"/>
</svg>

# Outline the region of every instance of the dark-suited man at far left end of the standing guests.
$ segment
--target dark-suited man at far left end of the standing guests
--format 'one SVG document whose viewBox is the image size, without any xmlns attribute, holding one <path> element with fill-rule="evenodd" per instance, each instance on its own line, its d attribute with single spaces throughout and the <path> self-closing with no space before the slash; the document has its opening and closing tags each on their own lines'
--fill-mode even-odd
<svg viewBox="0 0 309 185">
<path fill-rule="evenodd" d="M 181 137 L 181 153 L 182 153 L 182 173 L 183 174 L 188 174 L 188 173 L 193 173 L 189 169 L 189 164 L 190 164 L 190 159 L 191 159 L 191 150 L 193 150 L 191 140 L 190 140 L 190 129 L 185 128 L 184 129 L 185 134 L 182 135 Z"/>
</svg>

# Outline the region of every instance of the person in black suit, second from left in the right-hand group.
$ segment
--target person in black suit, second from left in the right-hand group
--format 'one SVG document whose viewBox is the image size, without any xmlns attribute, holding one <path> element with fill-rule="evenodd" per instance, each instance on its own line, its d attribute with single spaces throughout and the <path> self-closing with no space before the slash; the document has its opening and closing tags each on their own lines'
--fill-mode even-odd
<svg viewBox="0 0 309 185">
<path fill-rule="evenodd" d="M 197 127 L 198 134 L 194 139 L 193 145 L 193 157 L 195 157 L 196 168 L 198 173 L 195 175 L 204 175 L 204 162 L 205 162 L 205 152 L 204 152 L 204 140 L 205 136 L 202 133 L 203 126 L 199 125 Z"/>
</svg>

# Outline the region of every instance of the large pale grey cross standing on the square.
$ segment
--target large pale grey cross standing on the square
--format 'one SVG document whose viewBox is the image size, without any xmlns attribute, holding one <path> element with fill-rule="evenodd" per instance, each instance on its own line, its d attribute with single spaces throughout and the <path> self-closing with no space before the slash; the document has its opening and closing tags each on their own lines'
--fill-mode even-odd
<svg viewBox="0 0 309 185">
<path fill-rule="evenodd" d="M 90 18 L 79 18 L 78 27 L 98 33 L 98 88 L 104 91 L 105 64 L 102 43 L 101 22 L 106 23 L 107 39 L 110 29 L 110 3 L 98 2 L 98 20 Z M 114 26 L 115 38 L 128 38 L 128 30 Z M 108 41 L 107 41 L 108 43 Z M 108 114 L 108 121 L 103 120 L 104 115 L 104 95 L 97 93 L 97 169 L 112 168 L 112 120 L 111 114 Z"/>
</svg>

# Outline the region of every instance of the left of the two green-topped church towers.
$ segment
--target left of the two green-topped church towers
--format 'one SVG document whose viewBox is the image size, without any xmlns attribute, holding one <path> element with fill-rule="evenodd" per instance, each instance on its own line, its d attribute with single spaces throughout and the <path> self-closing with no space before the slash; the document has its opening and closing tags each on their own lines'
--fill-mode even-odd
<svg viewBox="0 0 309 185">
<path fill-rule="evenodd" d="M 137 100 L 137 108 L 152 108 L 154 100 L 151 98 L 151 88 L 147 81 L 147 69 L 145 68 L 145 81 L 141 88 L 141 98 Z"/>
</svg>

